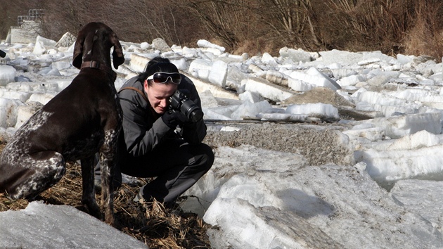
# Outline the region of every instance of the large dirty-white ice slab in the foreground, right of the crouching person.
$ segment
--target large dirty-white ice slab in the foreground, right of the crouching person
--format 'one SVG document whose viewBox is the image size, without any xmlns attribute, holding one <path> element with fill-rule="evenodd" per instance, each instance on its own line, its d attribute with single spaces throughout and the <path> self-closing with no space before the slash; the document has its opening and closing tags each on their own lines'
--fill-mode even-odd
<svg viewBox="0 0 443 249">
<path fill-rule="evenodd" d="M 364 163 L 310 166 L 293 153 L 275 154 L 268 158 L 263 155 L 269 151 L 250 146 L 218 151 L 221 162 L 214 170 L 233 176 L 221 185 L 204 215 L 205 222 L 218 227 L 210 231 L 217 248 L 442 247 L 437 218 L 432 226 L 421 216 L 425 210 L 405 208 L 392 197 L 397 193 L 380 189 L 358 169 Z M 416 198 L 423 196 L 409 201 L 418 202 Z M 441 209 L 432 204 L 428 208 L 432 213 Z"/>
</svg>

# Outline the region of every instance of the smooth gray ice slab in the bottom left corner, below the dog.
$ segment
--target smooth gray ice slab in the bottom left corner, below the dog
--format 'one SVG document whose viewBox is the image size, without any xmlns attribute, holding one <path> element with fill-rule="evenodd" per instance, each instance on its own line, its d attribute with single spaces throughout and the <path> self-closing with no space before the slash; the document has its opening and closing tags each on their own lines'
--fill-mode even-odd
<svg viewBox="0 0 443 249">
<path fill-rule="evenodd" d="M 68 205 L 34 201 L 25 210 L 0 212 L 1 248 L 146 248 Z"/>
</svg>

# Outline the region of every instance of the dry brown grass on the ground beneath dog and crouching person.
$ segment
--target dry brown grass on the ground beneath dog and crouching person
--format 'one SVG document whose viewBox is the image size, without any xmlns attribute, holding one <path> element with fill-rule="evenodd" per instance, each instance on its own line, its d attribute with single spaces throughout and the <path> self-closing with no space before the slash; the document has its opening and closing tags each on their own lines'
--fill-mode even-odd
<svg viewBox="0 0 443 249">
<path fill-rule="evenodd" d="M 0 151 L 4 142 L 0 141 Z M 115 193 L 114 207 L 117 229 L 142 241 L 149 248 L 210 248 L 206 231 L 209 227 L 190 212 L 167 210 L 161 203 L 135 203 L 139 186 L 123 184 Z M 53 205 L 72 205 L 85 211 L 81 203 L 82 176 L 77 163 L 67 165 L 66 174 L 55 186 L 41 193 L 39 200 Z M 96 195 L 100 200 L 100 195 Z M 21 210 L 27 200 L 10 200 L 0 193 L 0 212 Z"/>
</svg>

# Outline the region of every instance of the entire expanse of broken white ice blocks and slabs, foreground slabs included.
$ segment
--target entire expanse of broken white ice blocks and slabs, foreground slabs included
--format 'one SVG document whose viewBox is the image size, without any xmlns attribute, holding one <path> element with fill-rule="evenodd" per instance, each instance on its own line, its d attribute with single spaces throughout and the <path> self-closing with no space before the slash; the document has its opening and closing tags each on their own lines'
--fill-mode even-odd
<svg viewBox="0 0 443 249">
<path fill-rule="evenodd" d="M 213 226 L 213 248 L 443 248 L 442 63 L 380 51 L 238 56 L 205 40 L 195 48 L 121 43 L 116 89 L 161 55 L 193 80 L 205 120 L 215 122 L 209 131 L 238 134 L 248 124 L 236 121 L 263 122 L 250 135 L 262 143 L 217 146 L 212 169 L 185 193 L 195 197 L 182 207 Z M 79 71 L 72 43 L 38 37 L 0 49 L 0 136 L 8 140 Z M 336 96 L 304 98 L 320 87 Z M 340 120 L 343 111 L 366 118 Z M 292 133 L 267 141 L 283 121 Z M 0 212 L 0 248 L 143 246 L 67 205 Z"/>
</svg>

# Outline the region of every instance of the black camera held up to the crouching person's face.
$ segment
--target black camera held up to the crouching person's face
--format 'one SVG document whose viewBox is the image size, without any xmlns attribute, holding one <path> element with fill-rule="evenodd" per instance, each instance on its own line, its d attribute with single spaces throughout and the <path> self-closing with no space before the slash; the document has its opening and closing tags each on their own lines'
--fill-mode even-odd
<svg viewBox="0 0 443 249">
<path fill-rule="evenodd" d="M 203 118 L 202 109 L 179 90 L 169 98 L 169 110 L 179 110 L 192 122 L 198 122 Z"/>
</svg>

